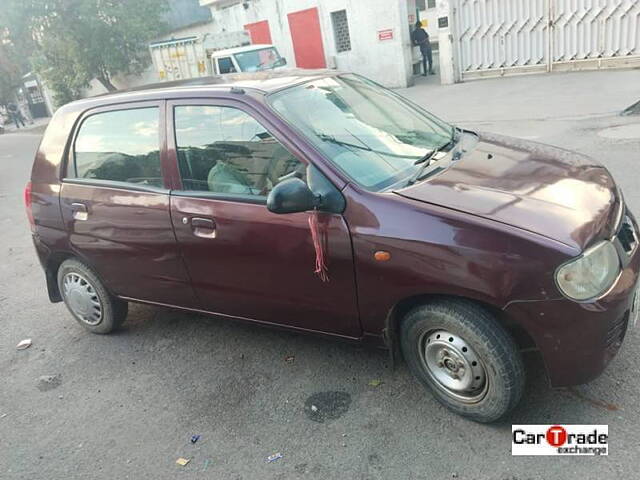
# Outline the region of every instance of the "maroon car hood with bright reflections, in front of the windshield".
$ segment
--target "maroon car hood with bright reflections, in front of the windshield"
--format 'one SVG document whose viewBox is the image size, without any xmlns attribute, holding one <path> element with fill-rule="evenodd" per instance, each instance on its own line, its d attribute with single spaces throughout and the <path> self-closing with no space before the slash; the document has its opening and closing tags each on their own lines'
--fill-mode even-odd
<svg viewBox="0 0 640 480">
<path fill-rule="evenodd" d="M 614 228 L 618 193 L 594 160 L 561 148 L 494 134 L 403 197 L 456 209 L 583 250 Z"/>
</svg>

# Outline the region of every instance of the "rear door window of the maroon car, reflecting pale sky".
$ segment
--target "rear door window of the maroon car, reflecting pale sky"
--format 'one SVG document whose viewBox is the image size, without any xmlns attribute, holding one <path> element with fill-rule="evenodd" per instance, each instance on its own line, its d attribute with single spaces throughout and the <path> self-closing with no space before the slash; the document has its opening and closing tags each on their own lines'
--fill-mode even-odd
<svg viewBox="0 0 640 480">
<path fill-rule="evenodd" d="M 82 122 L 67 176 L 163 187 L 159 109 L 91 115 Z"/>
</svg>

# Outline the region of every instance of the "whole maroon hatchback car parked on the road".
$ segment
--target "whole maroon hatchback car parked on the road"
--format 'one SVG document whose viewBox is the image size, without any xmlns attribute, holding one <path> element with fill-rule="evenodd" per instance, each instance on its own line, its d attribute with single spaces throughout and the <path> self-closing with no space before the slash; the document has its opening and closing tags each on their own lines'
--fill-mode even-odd
<svg viewBox="0 0 640 480">
<path fill-rule="evenodd" d="M 635 322 L 638 229 L 602 165 L 353 74 L 68 104 L 25 200 L 49 298 L 92 332 L 143 302 L 386 346 L 480 422 L 520 399 L 522 350 L 580 384 Z"/>
</svg>

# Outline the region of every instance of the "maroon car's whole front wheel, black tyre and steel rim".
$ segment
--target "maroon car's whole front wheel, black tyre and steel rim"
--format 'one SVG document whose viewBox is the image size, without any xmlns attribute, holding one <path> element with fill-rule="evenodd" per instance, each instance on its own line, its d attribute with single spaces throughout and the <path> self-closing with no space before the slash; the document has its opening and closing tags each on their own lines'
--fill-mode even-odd
<svg viewBox="0 0 640 480">
<path fill-rule="evenodd" d="M 454 412 L 493 422 L 516 406 L 524 366 L 511 336 L 484 308 L 443 299 L 404 318 L 400 344 L 409 369 Z"/>
</svg>

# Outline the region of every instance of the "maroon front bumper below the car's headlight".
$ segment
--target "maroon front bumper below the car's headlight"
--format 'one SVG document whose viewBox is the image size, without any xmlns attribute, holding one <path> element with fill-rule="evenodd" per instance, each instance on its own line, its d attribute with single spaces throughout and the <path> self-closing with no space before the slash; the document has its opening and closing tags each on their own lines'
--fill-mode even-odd
<svg viewBox="0 0 640 480">
<path fill-rule="evenodd" d="M 563 298 L 514 302 L 505 308 L 533 338 L 552 386 L 587 383 L 615 357 L 634 320 L 639 272 L 640 248 L 635 248 L 623 261 L 616 283 L 595 302 Z"/>
</svg>

